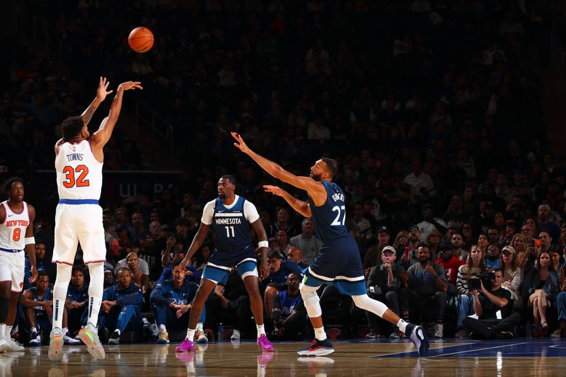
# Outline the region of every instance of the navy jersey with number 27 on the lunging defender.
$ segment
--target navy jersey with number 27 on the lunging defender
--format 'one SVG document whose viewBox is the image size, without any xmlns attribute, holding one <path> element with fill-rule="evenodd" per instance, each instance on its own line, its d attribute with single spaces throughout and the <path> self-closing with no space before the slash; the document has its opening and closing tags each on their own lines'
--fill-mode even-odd
<svg viewBox="0 0 566 377">
<path fill-rule="evenodd" d="M 318 238 L 327 244 L 333 240 L 347 237 L 350 232 L 346 228 L 346 204 L 344 192 L 332 182 L 322 181 L 326 190 L 326 202 L 316 207 L 313 199 L 308 197 L 311 205 L 311 215 Z"/>
</svg>

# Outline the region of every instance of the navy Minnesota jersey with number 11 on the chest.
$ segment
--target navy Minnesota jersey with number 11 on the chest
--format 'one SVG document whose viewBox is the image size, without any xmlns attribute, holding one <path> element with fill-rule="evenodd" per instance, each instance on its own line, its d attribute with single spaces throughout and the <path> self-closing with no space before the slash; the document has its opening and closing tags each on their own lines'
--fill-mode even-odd
<svg viewBox="0 0 566 377">
<path fill-rule="evenodd" d="M 229 251 L 251 245 L 251 225 L 243 213 L 244 202 L 246 199 L 238 197 L 236 204 L 228 209 L 222 199 L 216 198 L 212 226 L 217 250 Z"/>
</svg>

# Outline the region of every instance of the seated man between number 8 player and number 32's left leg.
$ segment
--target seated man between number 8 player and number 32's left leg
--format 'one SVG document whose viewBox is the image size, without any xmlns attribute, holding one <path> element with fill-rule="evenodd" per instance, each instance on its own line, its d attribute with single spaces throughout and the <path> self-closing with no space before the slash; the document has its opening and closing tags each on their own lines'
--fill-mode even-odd
<svg viewBox="0 0 566 377">
<path fill-rule="evenodd" d="M 37 274 L 35 286 L 23 291 L 19 304 L 23 311 L 24 320 L 21 327 L 30 330 L 30 345 L 40 346 L 42 334 L 49 337 L 51 332 L 51 318 L 53 315 L 53 290 L 50 288 L 49 276 L 45 272 Z M 63 311 L 63 339 L 66 344 L 80 344 L 74 339 L 67 328 L 67 311 Z"/>
</svg>

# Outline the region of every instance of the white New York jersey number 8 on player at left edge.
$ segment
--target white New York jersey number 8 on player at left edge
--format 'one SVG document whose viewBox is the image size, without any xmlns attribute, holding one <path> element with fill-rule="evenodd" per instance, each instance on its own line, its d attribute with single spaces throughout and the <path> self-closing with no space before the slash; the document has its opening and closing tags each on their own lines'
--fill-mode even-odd
<svg viewBox="0 0 566 377">
<path fill-rule="evenodd" d="M 23 210 L 18 214 L 8 206 L 8 201 L 0 203 L 6 216 L 0 224 L 0 248 L 23 250 L 25 248 L 25 230 L 30 224 L 28 203 L 23 202 Z M 1 253 L 1 252 L 0 252 Z"/>
</svg>

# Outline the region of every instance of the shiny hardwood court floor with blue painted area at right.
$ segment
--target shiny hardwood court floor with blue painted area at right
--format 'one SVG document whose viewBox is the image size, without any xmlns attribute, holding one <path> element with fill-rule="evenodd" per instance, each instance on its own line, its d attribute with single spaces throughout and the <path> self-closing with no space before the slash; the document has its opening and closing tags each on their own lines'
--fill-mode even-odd
<svg viewBox="0 0 566 377">
<path fill-rule="evenodd" d="M 64 359 L 47 358 L 47 347 L 0 354 L 0 377 L 20 376 L 474 376 L 566 375 L 566 340 L 437 341 L 427 357 L 415 357 L 407 340 L 335 342 L 326 357 L 296 355 L 305 342 L 275 344 L 260 352 L 252 342 L 211 343 L 175 354 L 175 345 L 105 346 L 106 359 L 94 360 L 82 346 L 65 346 Z"/>
</svg>

